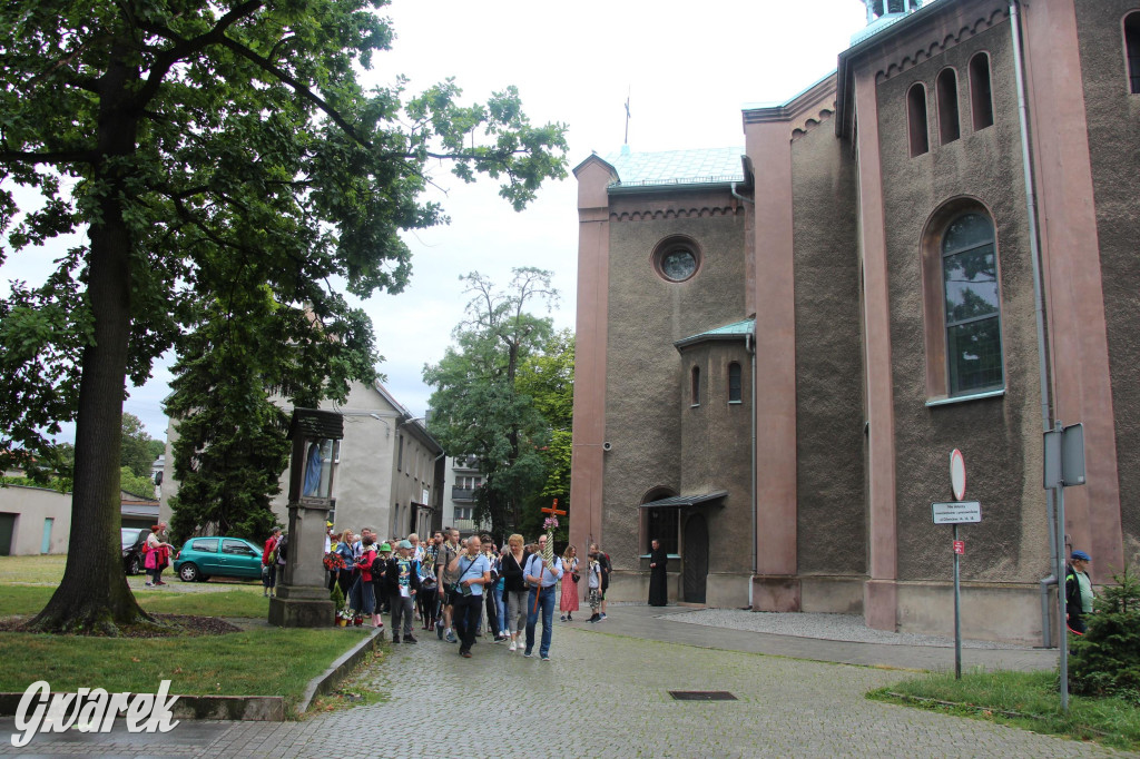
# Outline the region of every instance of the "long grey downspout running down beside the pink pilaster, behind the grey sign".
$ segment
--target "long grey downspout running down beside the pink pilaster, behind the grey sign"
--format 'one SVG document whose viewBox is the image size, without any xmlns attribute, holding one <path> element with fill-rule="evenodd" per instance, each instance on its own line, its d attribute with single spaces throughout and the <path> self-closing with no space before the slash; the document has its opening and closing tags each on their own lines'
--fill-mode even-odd
<svg viewBox="0 0 1140 759">
<path fill-rule="evenodd" d="M 1009 27 L 1013 42 L 1013 79 L 1017 81 L 1017 115 L 1021 130 L 1021 166 L 1025 173 L 1025 210 L 1029 227 L 1029 260 L 1033 263 L 1033 311 L 1037 328 L 1037 372 L 1041 384 L 1041 429 L 1049 432 L 1053 429 L 1049 413 L 1049 345 L 1045 342 L 1045 292 L 1041 274 L 1041 245 L 1037 227 L 1037 195 L 1034 190 L 1033 161 L 1029 144 L 1029 106 L 1025 95 L 1025 58 L 1021 50 L 1021 14 L 1018 0 L 1009 0 Z M 1045 513 L 1049 522 L 1049 552 L 1051 566 L 1054 571 L 1041 580 L 1041 638 L 1045 648 L 1052 647 L 1051 626 L 1049 623 L 1049 586 L 1057 585 L 1056 568 L 1060 566 L 1057 552 L 1058 530 L 1064 532 L 1065 525 L 1056 524 L 1057 503 L 1052 489 L 1045 491 Z"/>
</svg>

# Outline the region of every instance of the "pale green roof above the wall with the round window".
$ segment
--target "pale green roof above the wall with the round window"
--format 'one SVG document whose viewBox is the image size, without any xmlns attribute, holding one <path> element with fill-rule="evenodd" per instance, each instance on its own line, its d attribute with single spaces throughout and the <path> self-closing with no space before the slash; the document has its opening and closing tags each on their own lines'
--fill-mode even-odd
<svg viewBox="0 0 1140 759">
<path fill-rule="evenodd" d="M 726 185 L 744 181 L 741 156 L 744 148 L 701 148 L 634 153 L 628 146 L 605 157 L 618 181 L 610 187 L 658 187 L 668 185 Z"/>
</svg>

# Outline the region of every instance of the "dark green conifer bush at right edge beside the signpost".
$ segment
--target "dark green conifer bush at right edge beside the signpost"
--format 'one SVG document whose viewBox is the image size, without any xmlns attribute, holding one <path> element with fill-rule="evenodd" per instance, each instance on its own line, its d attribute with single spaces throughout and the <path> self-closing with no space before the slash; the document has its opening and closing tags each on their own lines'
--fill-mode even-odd
<svg viewBox="0 0 1140 759">
<path fill-rule="evenodd" d="M 1085 618 L 1084 636 L 1074 636 L 1069 687 L 1140 705 L 1140 580 L 1129 566 L 1113 580 Z"/>
</svg>

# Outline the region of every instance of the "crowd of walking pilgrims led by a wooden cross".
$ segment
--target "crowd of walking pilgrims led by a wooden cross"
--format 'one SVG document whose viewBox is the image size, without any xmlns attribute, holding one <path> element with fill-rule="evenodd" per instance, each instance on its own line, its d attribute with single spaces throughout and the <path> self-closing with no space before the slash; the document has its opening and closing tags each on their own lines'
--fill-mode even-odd
<svg viewBox="0 0 1140 759">
<path fill-rule="evenodd" d="M 547 547 L 551 536 L 527 544 L 512 534 L 502 548 L 489 534 L 461 539 L 449 528 L 421 540 L 416 533 L 382 540 L 375 530 L 335 531 L 327 523 L 324 564 L 327 585 L 339 587 L 347 614 L 358 623 L 370 619 L 384 627 L 393 644 L 416 644 L 414 628 L 434 631 L 439 640 L 458 645 L 471 658 L 479 638 L 507 644 L 508 652 L 549 661 L 554 607 L 560 621 L 575 621 L 579 601 L 589 604 L 589 622 L 605 619 L 609 556 L 592 544 L 579 560 L 575 546 L 561 556 Z M 277 564 L 278 530 L 266 541 L 263 563 Z M 263 573 L 266 595 L 272 595 L 276 571 Z M 542 622 L 542 637 L 536 640 Z M 537 651 L 536 651 L 537 643 Z"/>
</svg>

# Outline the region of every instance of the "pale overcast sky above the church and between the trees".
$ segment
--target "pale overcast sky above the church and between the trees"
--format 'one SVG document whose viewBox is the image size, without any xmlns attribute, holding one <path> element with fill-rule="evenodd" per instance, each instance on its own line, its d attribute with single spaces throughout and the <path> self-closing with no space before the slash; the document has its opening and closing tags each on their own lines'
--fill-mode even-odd
<svg viewBox="0 0 1140 759">
<path fill-rule="evenodd" d="M 384 14 L 397 39 L 390 52 L 374 56 L 366 82 L 405 74 L 408 91 L 418 92 L 455 76 L 470 100 L 514 84 L 532 123 L 568 124 L 570 168 L 591 152 L 604 157 L 620 149 L 627 93 L 635 152 L 743 146 L 741 107 L 785 101 L 834 71 L 836 56 L 866 18 L 860 0 L 393 0 Z M 408 235 L 410 285 L 363 303 L 385 358 L 386 386 L 417 416 L 431 394 L 423 367 L 442 357 L 463 317 L 459 275 L 478 270 L 505 285 L 513 267 L 549 269 L 562 295 L 555 325 L 575 321 L 573 177 L 548 183 L 522 213 L 498 197 L 494 181 L 464 185 L 445 166 L 433 178 L 446 193 L 433 199 L 451 223 Z M 39 281 L 54 252 L 9 258 L 0 291 L 9 279 Z M 130 387 L 124 406 L 162 439 L 169 364 L 168 357 L 146 385 Z"/>
</svg>

